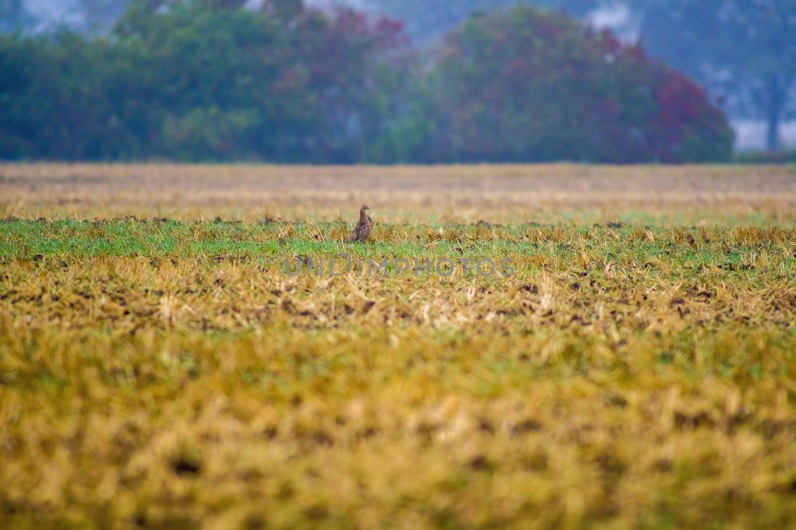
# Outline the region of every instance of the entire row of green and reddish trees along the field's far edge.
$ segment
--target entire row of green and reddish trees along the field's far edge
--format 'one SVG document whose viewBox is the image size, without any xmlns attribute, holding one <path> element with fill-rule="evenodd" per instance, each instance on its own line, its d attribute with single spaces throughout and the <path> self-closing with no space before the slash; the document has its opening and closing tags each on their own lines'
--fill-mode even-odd
<svg viewBox="0 0 796 530">
<path fill-rule="evenodd" d="M 0 158 L 276 163 L 724 161 L 704 90 L 565 14 L 400 21 L 301 0 L 134 0 L 111 33 L 0 37 Z"/>
</svg>

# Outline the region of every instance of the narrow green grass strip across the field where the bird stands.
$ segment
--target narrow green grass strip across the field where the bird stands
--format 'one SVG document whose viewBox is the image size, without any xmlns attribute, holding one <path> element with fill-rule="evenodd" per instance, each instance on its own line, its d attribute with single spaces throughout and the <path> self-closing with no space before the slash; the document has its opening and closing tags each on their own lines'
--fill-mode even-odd
<svg viewBox="0 0 796 530">
<path fill-rule="evenodd" d="M 345 244 L 343 223 L 176 222 L 149 220 L 0 222 L 0 257 L 451 257 L 570 259 L 588 253 L 608 261 L 650 261 L 698 269 L 707 265 L 755 270 L 744 257 L 771 253 L 786 270 L 794 265 L 796 228 L 577 224 L 462 226 L 380 224 L 365 245 Z M 687 244 L 679 244 L 678 241 Z M 654 267 L 654 263 L 650 262 Z"/>
</svg>

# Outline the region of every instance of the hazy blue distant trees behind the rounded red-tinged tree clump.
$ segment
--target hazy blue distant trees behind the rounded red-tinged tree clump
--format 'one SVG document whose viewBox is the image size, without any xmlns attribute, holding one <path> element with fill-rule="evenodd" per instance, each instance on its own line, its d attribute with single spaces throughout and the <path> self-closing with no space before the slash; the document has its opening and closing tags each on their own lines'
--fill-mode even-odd
<svg viewBox="0 0 796 530">
<path fill-rule="evenodd" d="M 796 0 L 369 0 L 408 23 L 421 43 L 436 41 L 474 11 L 517 2 L 608 14 L 626 38 L 689 75 L 733 118 L 767 124 L 766 145 L 782 148 L 780 126 L 796 117 Z M 633 37 L 630 37 L 633 36 Z"/>
</svg>

